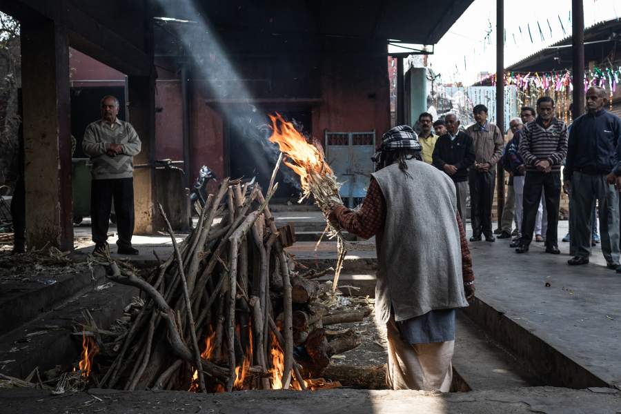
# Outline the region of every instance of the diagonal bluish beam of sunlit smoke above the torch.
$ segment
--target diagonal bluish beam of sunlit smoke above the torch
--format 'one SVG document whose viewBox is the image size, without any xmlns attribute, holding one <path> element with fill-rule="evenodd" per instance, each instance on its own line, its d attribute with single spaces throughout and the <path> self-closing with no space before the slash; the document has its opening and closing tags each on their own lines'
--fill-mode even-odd
<svg viewBox="0 0 621 414">
<path fill-rule="evenodd" d="M 164 18 L 162 25 L 168 32 L 173 31 L 183 45 L 186 56 L 193 60 L 193 71 L 204 79 L 215 99 L 235 99 L 236 105 L 221 105 L 219 110 L 230 120 L 231 128 L 239 137 L 252 139 L 262 148 L 264 154 L 251 152 L 257 170 L 271 173 L 278 158 L 279 149 L 268 139 L 271 135 L 270 124 L 265 111 L 253 105 L 253 97 L 246 88 L 248 79 L 239 75 L 228 53 L 221 46 L 213 26 L 203 10 L 193 0 L 157 0 Z M 175 23 L 168 23 L 174 21 Z M 245 103 L 244 103 L 245 102 Z M 280 172 L 284 181 L 299 189 L 299 178 L 293 170 L 282 165 Z"/>
</svg>

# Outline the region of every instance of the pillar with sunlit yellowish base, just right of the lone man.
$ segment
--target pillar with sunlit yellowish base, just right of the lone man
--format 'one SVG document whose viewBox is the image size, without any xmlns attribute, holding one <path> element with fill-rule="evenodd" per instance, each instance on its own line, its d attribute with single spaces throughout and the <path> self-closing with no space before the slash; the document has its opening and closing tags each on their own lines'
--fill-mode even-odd
<svg viewBox="0 0 621 414">
<path fill-rule="evenodd" d="M 128 115 L 142 143 L 141 152 L 134 157 L 135 234 L 154 230 L 157 209 L 154 202 L 153 154 L 155 154 L 155 76 L 128 77 Z"/>
</svg>

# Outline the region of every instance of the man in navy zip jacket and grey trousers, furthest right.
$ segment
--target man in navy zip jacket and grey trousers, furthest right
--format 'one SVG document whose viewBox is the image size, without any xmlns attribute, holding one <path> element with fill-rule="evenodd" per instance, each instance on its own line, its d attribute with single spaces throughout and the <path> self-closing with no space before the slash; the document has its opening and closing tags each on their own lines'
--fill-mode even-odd
<svg viewBox="0 0 621 414">
<path fill-rule="evenodd" d="M 586 91 L 586 114 L 573 121 L 564 170 L 571 193 L 570 237 L 575 256 L 570 265 L 589 263 L 593 204 L 600 208 L 600 240 L 607 267 L 619 267 L 619 195 L 614 171 L 621 166 L 621 119 L 604 110 L 606 92 Z"/>
</svg>

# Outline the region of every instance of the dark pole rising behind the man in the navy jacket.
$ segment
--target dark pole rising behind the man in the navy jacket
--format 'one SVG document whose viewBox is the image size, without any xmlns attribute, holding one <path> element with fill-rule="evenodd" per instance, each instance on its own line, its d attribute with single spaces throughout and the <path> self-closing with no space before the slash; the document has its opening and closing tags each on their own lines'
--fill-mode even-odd
<svg viewBox="0 0 621 414">
<path fill-rule="evenodd" d="M 571 0 L 571 47 L 573 51 L 573 119 L 584 113 L 584 6 Z"/>
</svg>

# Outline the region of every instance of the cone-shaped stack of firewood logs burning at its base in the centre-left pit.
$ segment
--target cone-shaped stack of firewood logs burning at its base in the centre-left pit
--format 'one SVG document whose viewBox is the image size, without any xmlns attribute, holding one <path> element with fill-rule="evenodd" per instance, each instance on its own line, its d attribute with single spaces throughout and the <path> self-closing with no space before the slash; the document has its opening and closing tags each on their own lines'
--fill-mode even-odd
<svg viewBox="0 0 621 414">
<path fill-rule="evenodd" d="M 328 315 L 315 303 L 318 274 L 294 271 L 268 207 L 275 187 L 264 196 L 256 185 L 225 179 L 183 242 L 168 226 L 175 253 L 146 277 L 107 257 L 108 277 L 145 298 L 126 310 L 115 335 L 95 335 L 97 386 L 306 389 L 313 382 L 303 373 L 316 378 L 331 355 L 359 344 L 351 331 L 325 328 L 352 316 Z"/>
</svg>

